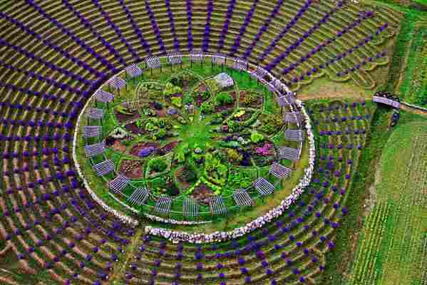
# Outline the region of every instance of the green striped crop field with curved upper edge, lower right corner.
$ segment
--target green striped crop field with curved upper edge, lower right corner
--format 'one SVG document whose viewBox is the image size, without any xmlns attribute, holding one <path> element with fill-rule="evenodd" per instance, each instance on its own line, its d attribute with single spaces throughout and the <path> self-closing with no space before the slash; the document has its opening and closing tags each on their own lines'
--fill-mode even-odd
<svg viewBox="0 0 427 285">
<path fill-rule="evenodd" d="M 347 284 L 425 284 L 426 139 L 425 122 L 409 123 L 384 147 Z"/>
</svg>

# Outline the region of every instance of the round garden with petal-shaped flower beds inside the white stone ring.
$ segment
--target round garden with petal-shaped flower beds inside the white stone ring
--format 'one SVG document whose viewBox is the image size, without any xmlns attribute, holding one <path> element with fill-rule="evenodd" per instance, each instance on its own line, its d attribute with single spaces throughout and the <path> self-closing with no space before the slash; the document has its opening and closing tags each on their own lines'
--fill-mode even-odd
<svg viewBox="0 0 427 285">
<path fill-rule="evenodd" d="M 114 100 L 89 100 L 76 133 L 83 177 L 108 206 L 206 221 L 241 210 L 234 194 L 245 190 L 251 200 L 248 209 L 263 207 L 262 214 L 290 195 L 302 177 L 307 144 L 284 135 L 299 125 L 285 122 L 289 107 L 281 107 L 277 95 L 246 71 L 205 64 L 145 70 L 136 78 L 119 76 L 126 87 L 101 86 Z M 102 119 L 89 116 L 93 110 L 102 110 Z M 88 125 L 102 125 L 101 135 L 83 138 Z M 105 151 L 91 155 L 87 145 L 102 145 Z M 301 159 L 283 157 L 281 148 L 286 147 L 297 150 Z M 113 163 L 113 170 L 106 161 Z M 273 175 L 273 164 L 292 174 Z M 115 191 L 110 184 L 118 176 L 126 181 Z M 274 186 L 269 197 L 254 187 L 259 177 Z M 218 197 L 220 202 L 210 203 Z"/>
</svg>

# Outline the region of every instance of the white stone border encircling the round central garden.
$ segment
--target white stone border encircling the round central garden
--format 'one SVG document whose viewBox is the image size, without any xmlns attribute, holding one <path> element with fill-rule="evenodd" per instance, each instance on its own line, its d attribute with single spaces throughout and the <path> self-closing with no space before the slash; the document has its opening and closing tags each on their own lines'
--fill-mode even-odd
<svg viewBox="0 0 427 285">
<path fill-rule="evenodd" d="M 182 55 L 185 56 L 185 55 Z M 189 54 L 187 56 L 190 56 Z M 205 56 L 212 57 L 212 55 Z M 166 56 L 163 56 L 166 58 Z M 234 58 L 230 58 L 234 59 Z M 249 66 L 254 66 L 252 63 L 248 63 Z M 121 73 L 125 71 L 120 71 L 120 73 L 115 74 L 115 76 L 119 76 Z M 272 78 L 272 81 L 274 81 L 276 78 L 266 71 L 267 75 Z M 113 76 L 114 77 L 114 76 Z M 262 81 L 264 85 L 269 85 L 270 87 L 273 87 L 269 82 Z M 103 88 L 103 85 L 101 85 L 98 90 Z M 282 88 L 285 90 L 285 92 L 289 94 L 293 94 L 291 90 L 287 86 L 285 86 L 282 83 Z M 276 88 L 274 88 L 276 89 Z M 276 94 L 277 95 L 277 94 Z M 88 105 L 92 103 L 92 98 L 89 98 L 86 102 L 85 106 L 83 107 L 83 110 L 78 115 L 77 122 L 76 122 L 76 128 L 74 130 L 74 138 L 73 138 L 73 160 L 74 164 L 76 165 L 76 170 L 78 172 L 78 175 L 80 175 L 81 179 L 83 180 L 83 185 L 86 187 L 86 190 L 88 190 L 91 197 L 98 202 L 98 204 L 103 207 L 103 209 L 106 210 L 106 212 L 110 212 L 111 214 L 115 215 L 115 217 L 118 217 L 121 222 L 125 224 L 130 224 L 132 227 L 138 226 L 139 222 L 136 219 L 133 219 L 132 217 L 128 217 L 128 215 L 123 214 L 122 212 L 119 212 L 112 207 L 108 206 L 105 202 L 103 202 L 102 199 L 100 199 L 93 190 L 91 190 L 91 187 L 89 187 L 89 184 L 86 180 L 86 178 L 83 175 L 83 172 L 81 171 L 81 167 L 77 160 L 77 154 L 76 154 L 76 147 L 77 147 L 77 136 L 78 136 L 78 130 L 80 128 L 81 118 L 84 115 L 84 111 L 88 108 Z M 304 176 L 300 180 L 299 184 L 294 187 L 292 190 L 292 194 L 289 195 L 286 199 L 282 200 L 282 202 L 279 204 L 279 206 L 274 207 L 273 209 L 270 209 L 267 214 L 264 214 L 261 217 L 257 217 L 257 219 L 252 220 L 252 222 L 247 223 L 244 227 L 238 227 L 236 229 L 233 229 L 229 232 L 213 232 L 212 234 L 190 234 L 187 232 L 180 232 L 180 231 L 173 231 L 158 227 L 151 227 L 146 226 L 145 227 L 145 233 L 147 234 L 153 234 L 155 236 L 164 237 L 165 239 L 169 239 L 172 242 L 191 242 L 191 243 L 206 243 L 206 242 L 223 242 L 228 239 L 235 239 L 237 237 L 242 237 L 243 235 L 252 232 L 254 229 L 258 229 L 262 227 L 264 224 L 271 222 L 273 219 L 279 217 L 284 213 L 286 209 L 289 208 L 289 206 L 295 202 L 299 196 L 304 192 L 304 188 L 307 187 L 312 180 L 312 175 L 314 171 L 314 160 L 316 157 L 316 149 L 314 144 L 314 135 L 312 133 L 312 125 L 310 123 L 309 115 L 307 115 L 306 110 L 304 109 L 304 106 L 302 104 L 301 100 L 295 100 L 295 103 L 297 103 L 297 106 L 302 110 L 302 113 L 305 117 L 305 128 L 307 130 L 307 138 L 309 142 L 309 166 L 304 170 Z M 292 105 L 290 105 L 291 110 L 293 110 Z M 116 199 L 117 201 L 117 199 Z M 118 201 L 120 202 L 120 201 Z M 120 202 L 120 204 L 124 204 Z M 127 205 L 126 205 L 127 206 Z M 128 207 L 126 207 L 128 208 Z M 137 213 L 138 211 L 132 210 L 133 212 Z M 163 219 L 161 217 L 157 217 L 152 214 L 146 214 L 144 213 L 145 217 L 148 217 L 148 219 L 152 219 L 155 222 L 164 222 L 168 224 L 205 224 L 210 221 L 203 221 L 203 222 L 194 222 L 194 221 L 178 221 L 175 219 Z"/>
</svg>

